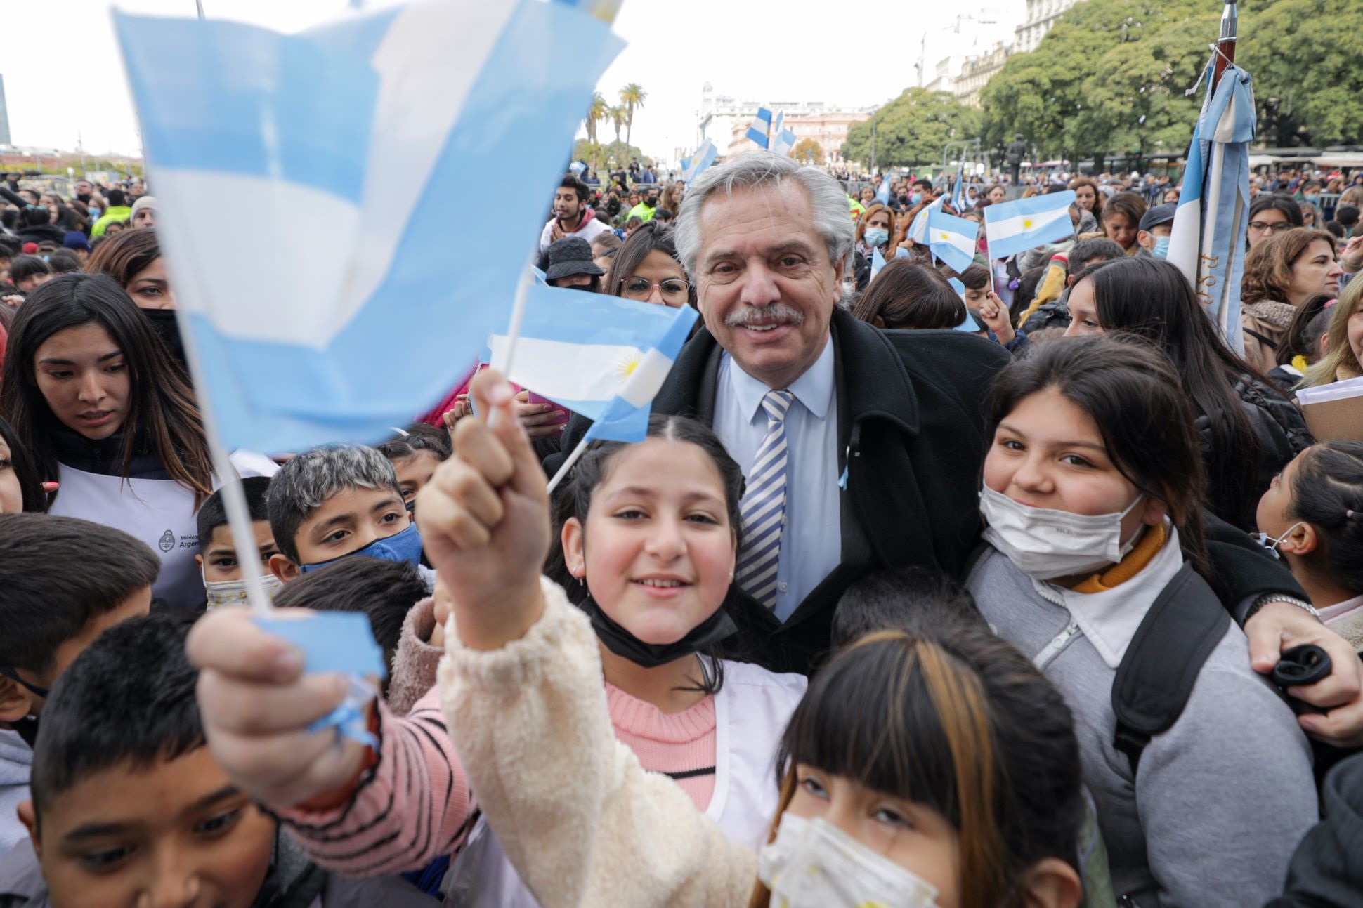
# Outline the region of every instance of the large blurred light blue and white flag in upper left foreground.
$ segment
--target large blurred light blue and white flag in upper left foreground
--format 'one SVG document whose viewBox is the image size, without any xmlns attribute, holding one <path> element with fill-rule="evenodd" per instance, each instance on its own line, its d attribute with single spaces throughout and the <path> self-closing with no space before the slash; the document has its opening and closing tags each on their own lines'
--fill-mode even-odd
<svg viewBox="0 0 1363 908">
<path fill-rule="evenodd" d="M 114 14 L 196 386 L 229 447 L 373 440 L 506 319 L 579 113 L 600 5 L 413 1 L 284 35 Z M 570 71 L 563 42 L 579 48 Z M 523 191 L 477 222 L 448 199 Z M 262 244 L 217 209 L 289 228 Z M 243 262 L 251 262 L 243 292 Z"/>
</svg>

